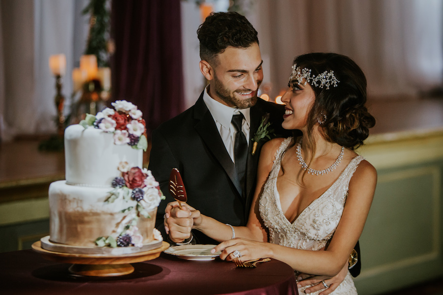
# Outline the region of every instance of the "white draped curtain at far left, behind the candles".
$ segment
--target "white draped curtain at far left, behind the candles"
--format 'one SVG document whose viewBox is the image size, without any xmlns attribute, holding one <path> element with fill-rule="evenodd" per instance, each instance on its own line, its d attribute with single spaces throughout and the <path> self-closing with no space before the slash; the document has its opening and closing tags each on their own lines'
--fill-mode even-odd
<svg viewBox="0 0 443 295">
<path fill-rule="evenodd" d="M 70 73 L 85 49 L 89 28 L 89 17 L 81 15 L 87 3 L 88 0 L 0 0 L 1 140 L 55 131 L 56 89 L 49 57 L 66 55 L 62 93 L 69 105 Z"/>
</svg>

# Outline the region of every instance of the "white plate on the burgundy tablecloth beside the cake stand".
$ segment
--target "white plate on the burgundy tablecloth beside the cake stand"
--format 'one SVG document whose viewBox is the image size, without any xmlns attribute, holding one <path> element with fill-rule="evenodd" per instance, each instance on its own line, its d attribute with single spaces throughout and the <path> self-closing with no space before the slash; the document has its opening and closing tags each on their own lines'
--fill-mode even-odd
<svg viewBox="0 0 443 295">
<path fill-rule="evenodd" d="M 173 246 L 164 250 L 164 253 L 177 256 L 177 258 L 195 261 L 214 260 L 221 252 L 211 253 L 216 245 L 182 245 Z"/>
</svg>

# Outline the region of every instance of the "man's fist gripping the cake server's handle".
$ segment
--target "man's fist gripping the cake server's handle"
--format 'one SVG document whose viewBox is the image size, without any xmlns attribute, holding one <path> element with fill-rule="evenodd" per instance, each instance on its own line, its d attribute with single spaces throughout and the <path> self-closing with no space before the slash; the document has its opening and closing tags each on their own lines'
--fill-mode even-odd
<svg viewBox="0 0 443 295">
<path fill-rule="evenodd" d="M 174 243 L 180 243 L 190 238 L 194 224 L 190 208 L 184 203 L 182 203 L 182 209 L 177 202 L 169 203 L 165 209 L 163 224 L 166 234 Z"/>
</svg>

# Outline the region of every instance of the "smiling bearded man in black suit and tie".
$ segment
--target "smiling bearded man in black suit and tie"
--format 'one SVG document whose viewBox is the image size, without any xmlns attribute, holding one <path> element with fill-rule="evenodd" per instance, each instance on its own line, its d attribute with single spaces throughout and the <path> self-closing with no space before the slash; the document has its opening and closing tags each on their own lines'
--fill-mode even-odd
<svg viewBox="0 0 443 295">
<path fill-rule="evenodd" d="M 171 170 L 179 169 L 190 206 L 223 223 L 244 226 L 265 143 L 259 141 L 253 154 L 252 139 L 260 121 L 268 114 L 276 136 L 290 134 L 281 127 L 283 106 L 257 98 L 263 79 L 262 60 L 257 32 L 249 21 L 235 12 L 214 13 L 197 35 L 200 71 L 209 84 L 194 106 L 154 130 L 149 169 L 166 196 L 157 216 L 162 235 L 173 243 L 217 244 L 199 231 L 190 232 L 191 219 L 177 218 L 186 217 L 184 210 L 166 216 L 165 224 L 173 230 L 169 236 L 165 233 L 164 209 L 174 201 L 168 187 Z M 235 123 L 233 118 L 238 115 L 242 118 Z M 237 147 L 237 135 L 243 137 L 243 149 Z M 245 154 L 236 153 L 239 150 Z"/>
</svg>

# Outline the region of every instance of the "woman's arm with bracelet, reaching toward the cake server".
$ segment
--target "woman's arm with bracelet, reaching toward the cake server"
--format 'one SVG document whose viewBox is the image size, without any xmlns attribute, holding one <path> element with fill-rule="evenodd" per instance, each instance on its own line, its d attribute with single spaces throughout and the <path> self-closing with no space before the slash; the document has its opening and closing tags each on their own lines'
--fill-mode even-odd
<svg viewBox="0 0 443 295">
<path fill-rule="evenodd" d="M 246 227 L 233 227 L 235 237 L 243 237 L 255 241 L 267 241 L 267 233 L 259 220 L 258 196 L 261 195 L 263 185 L 272 169 L 275 152 L 284 139 L 277 138 L 268 141 L 263 145 L 260 152 L 260 159 L 257 168 L 257 185 L 251 206 L 251 212 Z M 188 206 L 190 207 L 190 206 Z M 232 229 L 215 220 L 212 217 L 201 214 L 198 210 L 190 207 L 191 217 L 193 218 L 193 229 L 199 230 L 206 236 L 212 237 L 217 241 L 225 241 L 232 238 Z"/>
</svg>

